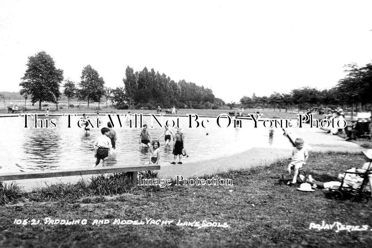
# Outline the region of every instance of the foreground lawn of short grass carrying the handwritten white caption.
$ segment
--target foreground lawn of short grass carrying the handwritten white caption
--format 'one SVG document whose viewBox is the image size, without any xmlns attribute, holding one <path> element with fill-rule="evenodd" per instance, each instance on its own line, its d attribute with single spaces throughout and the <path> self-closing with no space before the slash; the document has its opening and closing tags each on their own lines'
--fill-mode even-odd
<svg viewBox="0 0 372 248">
<path fill-rule="evenodd" d="M 304 168 L 318 180 L 358 167 L 363 155 L 310 154 Z M 309 229 L 310 223 L 369 225 L 372 204 L 336 201 L 324 191 L 279 186 L 288 161 L 219 174 L 234 186 L 135 187 L 111 197 L 50 198 L 0 206 L 0 247 L 370 247 L 371 231 Z M 101 192 L 102 193 L 102 192 Z M 41 198 L 39 198 L 41 200 Z M 15 219 L 87 219 L 87 225 L 16 225 Z M 113 225 L 115 218 L 174 220 L 170 225 Z M 94 219 L 109 219 L 92 225 Z M 181 221 L 227 222 L 230 228 L 177 226 Z"/>
</svg>

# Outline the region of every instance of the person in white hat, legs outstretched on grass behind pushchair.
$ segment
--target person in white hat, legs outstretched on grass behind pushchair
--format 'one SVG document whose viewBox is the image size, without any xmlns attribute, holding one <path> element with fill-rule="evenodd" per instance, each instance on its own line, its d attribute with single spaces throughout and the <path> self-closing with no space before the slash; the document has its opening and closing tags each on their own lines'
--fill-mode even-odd
<svg viewBox="0 0 372 248">
<path fill-rule="evenodd" d="M 365 152 L 362 152 L 365 155 L 365 162 L 362 165 L 361 169 L 358 168 L 349 168 L 346 172 L 349 173 L 343 173 L 339 174 L 339 180 L 340 181 L 330 181 L 330 182 L 321 182 L 316 181 L 312 178 L 311 175 L 309 175 L 309 182 L 312 185 L 313 188 L 324 188 L 324 189 L 330 189 L 334 186 L 340 187 L 341 186 L 341 180 L 343 179 L 343 187 L 351 187 L 353 189 L 360 189 L 360 186 L 362 186 L 363 178 L 360 177 L 358 174 L 353 173 L 365 173 L 366 171 L 372 170 L 372 149 L 368 149 Z M 363 190 L 372 192 L 372 174 L 368 175 L 368 183 L 365 184 Z"/>
</svg>

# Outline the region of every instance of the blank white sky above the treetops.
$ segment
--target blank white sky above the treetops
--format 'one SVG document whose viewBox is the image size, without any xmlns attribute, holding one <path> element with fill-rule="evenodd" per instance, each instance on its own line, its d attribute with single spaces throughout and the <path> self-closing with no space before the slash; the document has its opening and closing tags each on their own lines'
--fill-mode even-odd
<svg viewBox="0 0 372 248">
<path fill-rule="evenodd" d="M 372 61 L 372 0 L 0 0 L 0 91 L 19 91 L 45 51 L 78 83 L 91 65 L 105 86 L 125 68 L 242 96 L 331 88 L 343 66 Z"/>
</svg>

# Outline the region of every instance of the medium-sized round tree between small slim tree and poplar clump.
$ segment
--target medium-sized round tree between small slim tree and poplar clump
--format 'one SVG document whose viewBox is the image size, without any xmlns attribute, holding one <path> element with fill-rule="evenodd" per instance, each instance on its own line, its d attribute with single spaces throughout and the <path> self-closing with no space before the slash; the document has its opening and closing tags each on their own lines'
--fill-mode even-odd
<svg viewBox="0 0 372 248">
<path fill-rule="evenodd" d="M 103 78 L 99 76 L 98 72 L 94 70 L 90 65 L 84 67 L 81 72 L 81 96 L 88 101 L 87 108 L 89 109 L 89 102 L 99 102 L 105 93 Z M 98 107 L 99 108 L 99 107 Z"/>
</svg>

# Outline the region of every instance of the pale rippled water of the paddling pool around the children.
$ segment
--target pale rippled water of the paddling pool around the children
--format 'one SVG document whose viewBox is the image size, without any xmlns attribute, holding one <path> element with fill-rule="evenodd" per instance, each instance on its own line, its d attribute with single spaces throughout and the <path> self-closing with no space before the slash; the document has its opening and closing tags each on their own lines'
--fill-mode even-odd
<svg viewBox="0 0 372 248">
<path fill-rule="evenodd" d="M 101 115 L 103 124 L 100 128 L 91 128 L 87 134 L 83 128 L 77 126 L 81 116 L 71 117 L 71 128 L 68 126 L 67 116 L 39 116 L 40 119 L 56 119 L 56 128 L 35 129 L 32 117 L 28 117 L 28 128 L 24 117 L 1 117 L 0 125 L 4 133 L 0 139 L 1 164 L 0 173 L 33 170 L 57 170 L 69 168 L 91 167 L 94 158 L 93 142 L 101 134 L 100 128 L 107 126 L 108 116 Z M 124 116 L 122 116 L 124 119 Z M 96 116 L 89 119 L 96 121 Z M 185 135 L 185 149 L 189 157 L 183 157 L 183 162 L 196 162 L 212 158 L 225 157 L 246 151 L 252 147 L 291 148 L 292 144 L 283 135 L 281 129 L 274 129 L 275 134 L 270 137 L 269 129 L 253 128 L 252 120 L 241 120 L 242 128 L 220 128 L 215 117 L 205 117 L 209 122 L 206 128 L 186 128 L 188 117 L 178 117 Z M 118 140 L 116 149 L 110 155 L 108 166 L 112 165 L 141 165 L 148 161 L 148 148 L 142 148 L 139 137 L 142 128 L 129 128 L 122 121 L 120 128 L 117 118 L 112 118 L 114 130 Z M 167 120 L 176 122 L 177 116 L 163 117 L 163 124 Z M 150 116 L 143 116 L 143 123 L 151 123 Z M 92 121 L 92 123 L 95 123 Z M 156 125 L 155 125 L 156 124 Z M 49 122 L 50 125 L 50 122 Z M 133 124 L 134 125 L 134 124 Z M 221 126 L 227 125 L 227 119 L 221 121 Z M 53 126 L 53 125 L 52 125 Z M 139 123 L 138 123 L 139 126 Z M 170 128 L 174 133 L 175 128 Z M 154 128 L 148 128 L 152 139 L 164 132 L 154 121 Z M 170 165 L 173 161 L 173 141 L 164 146 L 164 136 L 160 139 L 161 166 Z M 259 156 L 259 154 L 257 155 Z M 102 162 L 101 162 L 102 165 Z"/>
</svg>

